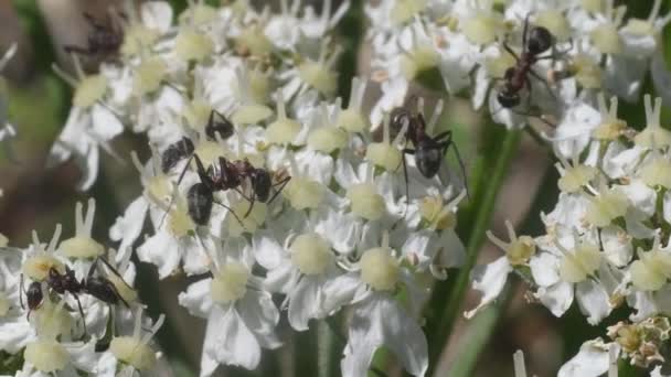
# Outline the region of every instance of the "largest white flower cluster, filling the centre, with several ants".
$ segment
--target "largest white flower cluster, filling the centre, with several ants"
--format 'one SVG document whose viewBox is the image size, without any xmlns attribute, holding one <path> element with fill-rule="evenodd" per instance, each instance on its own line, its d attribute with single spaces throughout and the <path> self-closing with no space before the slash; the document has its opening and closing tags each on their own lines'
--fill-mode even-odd
<svg viewBox="0 0 671 377">
<path fill-rule="evenodd" d="M 119 62 L 68 78 L 74 106 L 52 160 L 79 161 L 86 188 L 99 148 L 114 153 L 125 129 L 147 134 L 151 157 L 131 155 L 143 191 L 110 238 L 161 279 L 194 277 L 179 302 L 207 320 L 202 376 L 221 364 L 256 368 L 263 348 L 281 345 L 283 310 L 306 331 L 343 308 L 343 375 L 365 375 L 383 345 L 424 375 L 420 310 L 430 278 L 462 262 L 464 184 L 441 159 L 427 174 L 404 151 L 414 109 L 372 123 L 359 77 L 347 106 L 334 98 L 331 30 L 347 1 L 333 13 L 324 1 L 320 14 L 281 4 L 274 14 L 191 3 L 178 24 L 166 2 L 128 11 Z"/>
</svg>

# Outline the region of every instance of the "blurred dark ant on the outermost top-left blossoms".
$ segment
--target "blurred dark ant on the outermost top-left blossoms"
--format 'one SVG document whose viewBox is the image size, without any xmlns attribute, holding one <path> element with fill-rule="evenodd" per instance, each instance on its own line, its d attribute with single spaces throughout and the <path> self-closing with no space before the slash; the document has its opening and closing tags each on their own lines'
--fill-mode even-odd
<svg viewBox="0 0 671 377">
<path fill-rule="evenodd" d="M 124 43 L 124 33 L 108 15 L 108 25 L 98 23 L 89 13 L 83 13 L 88 24 L 93 28 L 87 37 L 85 47 L 77 45 L 65 45 L 65 52 L 106 58 L 116 55 Z"/>
</svg>

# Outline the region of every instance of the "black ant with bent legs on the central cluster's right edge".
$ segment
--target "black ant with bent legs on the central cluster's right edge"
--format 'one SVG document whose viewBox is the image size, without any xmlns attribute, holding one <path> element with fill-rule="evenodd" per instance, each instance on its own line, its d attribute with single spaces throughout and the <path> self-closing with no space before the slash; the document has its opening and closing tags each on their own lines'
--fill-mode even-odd
<svg viewBox="0 0 671 377">
<path fill-rule="evenodd" d="M 413 114 L 405 107 L 396 107 L 392 110 L 390 115 L 390 128 L 394 129 L 396 132 L 401 132 L 405 128 L 406 143 L 409 141 L 414 147 L 413 149 L 403 149 L 403 175 L 405 177 L 405 195 L 408 201 L 409 188 L 405 154 L 414 154 L 419 173 L 427 179 L 432 179 L 438 173 L 440 163 L 443 162 L 447 150 L 452 147 L 461 169 L 464 184 L 467 186 L 466 168 L 464 165 L 464 161 L 461 160 L 461 155 L 459 154 L 459 149 L 452 141 L 451 130 L 447 130 L 436 134 L 435 137 L 430 137 L 426 131 L 426 121 L 424 120 L 424 115 L 422 111 Z"/>
</svg>

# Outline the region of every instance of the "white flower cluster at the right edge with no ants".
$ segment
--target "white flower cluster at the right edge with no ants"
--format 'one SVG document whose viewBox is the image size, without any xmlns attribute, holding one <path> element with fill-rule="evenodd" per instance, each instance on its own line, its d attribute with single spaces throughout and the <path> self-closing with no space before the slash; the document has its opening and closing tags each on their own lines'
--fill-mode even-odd
<svg viewBox="0 0 671 377">
<path fill-rule="evenodd" d="M 658 315 L 670 310 L 671 131 L 660 126 L 660 98 L 653 104 L 646 95 L 641 131 L 617 118 L 615 98 L 609 108 L 603 96 L 599 104 L 600 121 L 585 150 L 556 164 L 561 194 L 555 208 L 542 215 L 546 234 L 518 237 L 510 224 L 509 243 L 490 234 L 505 255 L 473 271 L 473 287 L 483 298 L 467 313 L 494 300 L 513 271 L 556 316 L 575 300 L 596 325 L 627 306 L 630 322 L 609 328 L 613 343 L 590 341 L 563 376 L 605 373 L 611 344 L 621 357 L 647 367 L 663 360 L 659 349 L 669 337 L 668 320 Z"/>
</svg>

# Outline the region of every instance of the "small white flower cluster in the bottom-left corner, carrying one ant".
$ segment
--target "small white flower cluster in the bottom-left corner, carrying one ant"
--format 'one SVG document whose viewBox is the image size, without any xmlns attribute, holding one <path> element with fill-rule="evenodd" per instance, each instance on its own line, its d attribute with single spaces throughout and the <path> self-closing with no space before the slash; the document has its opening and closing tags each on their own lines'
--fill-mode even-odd
<svg viewBox="0 0 671 377">
<path fill-rule="evenodd" d="M 77 204 L 74 237 L 0 248 L 0 351 L 17 376 L 134 376 L 151 374 L 153 324 L 132 288 L 129 252 L 92 238 L 95 202 Z M 147 331 L 147 328 L 150 328 Z"/>
</svg>

